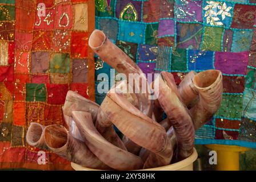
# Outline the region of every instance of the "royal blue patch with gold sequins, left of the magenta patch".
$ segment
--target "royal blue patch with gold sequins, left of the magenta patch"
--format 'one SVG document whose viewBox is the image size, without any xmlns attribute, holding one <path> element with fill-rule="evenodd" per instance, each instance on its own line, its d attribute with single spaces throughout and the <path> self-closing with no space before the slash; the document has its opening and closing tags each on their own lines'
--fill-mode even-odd
<svg viewBox="0 0 256 182">
<path fill-rule="evenodd" d="M 213 69 L 213 52 L 211 51 L 188 51 L 189 70 Z"/>
</svg>

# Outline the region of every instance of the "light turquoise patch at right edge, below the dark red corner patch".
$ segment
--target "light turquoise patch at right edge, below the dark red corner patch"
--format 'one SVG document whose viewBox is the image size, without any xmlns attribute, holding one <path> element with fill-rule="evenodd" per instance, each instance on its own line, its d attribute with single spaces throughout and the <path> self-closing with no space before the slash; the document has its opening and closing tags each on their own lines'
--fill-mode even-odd
<svg viewBox="0 0 256 182">
<path fill-rule="evenodd" d="M 249 51 L 252 38 L 253 31 L 234 31 L 232 52 Z"/>
</svg>

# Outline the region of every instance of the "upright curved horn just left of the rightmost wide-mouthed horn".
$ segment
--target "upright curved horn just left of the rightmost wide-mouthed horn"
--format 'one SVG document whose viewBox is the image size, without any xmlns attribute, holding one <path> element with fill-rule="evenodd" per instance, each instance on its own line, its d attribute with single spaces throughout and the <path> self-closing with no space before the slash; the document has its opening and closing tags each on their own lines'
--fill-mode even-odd
<svg viewBox="0 0 256 182">
<path fill-rule="evenodd" d="M 167 118 L 174 127 L 177 138 L 178 160 L 191 155 L 194 147 L 194 126 L 189 110 L 182 103 L 174 77 L 171 73 L 161 72 L 159 77 L 158 101 Z"/>
</svg>

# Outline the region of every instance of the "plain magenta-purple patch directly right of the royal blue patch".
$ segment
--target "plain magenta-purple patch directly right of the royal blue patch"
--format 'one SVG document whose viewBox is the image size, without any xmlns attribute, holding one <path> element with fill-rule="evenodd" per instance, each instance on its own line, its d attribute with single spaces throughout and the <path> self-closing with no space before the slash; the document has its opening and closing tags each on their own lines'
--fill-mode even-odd
<svg viewBox="0 0 256 182">
<path fill-rule="evenodd" d="M 246 75 L 249 51 L 215 52 L 215 69 L 226 74 Z"/>
</svg>

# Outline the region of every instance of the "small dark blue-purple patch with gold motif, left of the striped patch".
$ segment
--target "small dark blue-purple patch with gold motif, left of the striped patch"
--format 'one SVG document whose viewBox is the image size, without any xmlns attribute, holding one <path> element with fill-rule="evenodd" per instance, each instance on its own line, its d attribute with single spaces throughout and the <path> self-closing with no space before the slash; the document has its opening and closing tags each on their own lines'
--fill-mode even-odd
<svg viewBox="0 0 256 182">
<path fill-rule="evenodd" d="M 138 60 L 155 61 L 157 59 L 157 47 L 140 44 Z"/>
</svg>

